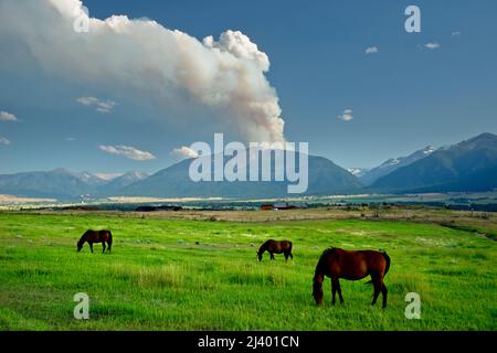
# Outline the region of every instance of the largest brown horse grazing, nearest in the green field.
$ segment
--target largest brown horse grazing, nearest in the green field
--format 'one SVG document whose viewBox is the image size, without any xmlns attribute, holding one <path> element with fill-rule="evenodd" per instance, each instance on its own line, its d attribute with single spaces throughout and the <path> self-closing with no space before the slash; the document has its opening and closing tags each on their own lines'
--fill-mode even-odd
<svg viewBox="0 0 497 353">
<path fill-rule="evenodd" d="M 337 291 L 340 297 L 340 302 L 343 302 L 339 278 L 357 280 L 371 276 L 369 282 L 372 282 L 374 286 L 374 295 L 371 304 L 373 306 L 377 302 L 381 291 L 383 297 L 383 308 L 385 308 L 388 290 L 383 284 L 383 278 L 389 271 L 389 268 L 390 257 L 384 252 L 350 252 L 336 247 L 326 249 L 319 258 L 314 275 L 314 299 L 318 306 L 322 303 L 322 281 L 325 276 L 331 278 L 332 304 L 335 304 L 335 295 Z"/>
</svg>

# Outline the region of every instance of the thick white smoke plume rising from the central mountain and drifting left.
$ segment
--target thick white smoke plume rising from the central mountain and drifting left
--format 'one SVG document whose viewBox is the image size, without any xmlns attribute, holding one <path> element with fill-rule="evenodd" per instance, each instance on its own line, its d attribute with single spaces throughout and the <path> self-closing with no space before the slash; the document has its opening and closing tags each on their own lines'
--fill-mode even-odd
<svg viewBox="0 0 497 353">
<path fill-rule="evenodd" d="M 284 141 L 278 98 L 265 77 L 269 61 L 243 33 L 199 41 L 152 20 L 91 13 L 80 0 L 0 0 L 0 44 L 27 47 L 43 69 L 65 78 L 152 93 L 165 105 L 184 95 L 246 140 Z M 75 21 L 88 31 L 75 31 Z"/>
</svg>

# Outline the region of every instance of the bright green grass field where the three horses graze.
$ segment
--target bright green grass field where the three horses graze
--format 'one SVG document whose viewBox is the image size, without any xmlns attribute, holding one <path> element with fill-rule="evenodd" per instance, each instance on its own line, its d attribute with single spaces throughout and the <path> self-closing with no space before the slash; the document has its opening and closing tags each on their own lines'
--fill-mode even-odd
<svg viewBox="0 0 497 353">
<path fill-rule="evenodd" d="M 76 253 L 87 228 L 112 229 L 113 254 Z M 267 238 L 293 240 L 295 265 L 257 263 Z M 346 303 L 332 307 L 327 279 L 315 306 L 329 246 L 388 252 L 385 310 L 366 280 L 341 280 Z M 496 330 L 496 259 L 495 240 L 435 224 L 0 213 L 0 330 Z M 89 320 L 73 317 L 76 292 Z M 408 292 L 421 320 L 404 317 Z"/>
</svg>

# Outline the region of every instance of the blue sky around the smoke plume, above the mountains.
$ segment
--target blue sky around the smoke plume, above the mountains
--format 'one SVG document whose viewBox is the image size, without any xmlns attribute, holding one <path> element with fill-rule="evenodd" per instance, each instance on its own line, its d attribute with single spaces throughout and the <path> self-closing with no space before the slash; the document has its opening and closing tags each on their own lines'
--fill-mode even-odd
<svg viewBox="0 0 497 353">
<path fill-rule="evenodd" d="M 4 1 L 9 0 L 0 4 Z M 374 167 L 427 145 L 497 132 L 495 1 L 87 0 L 84 4 L 94 18 L 148 18 L 200 41 L 208 35 L 218 39 L 226 30 L 243 32 L 271 62 L 265 76 L 277 93 L 285 138 L 308 141 L 311 154 L 341 167 Z M 404 30 L 409 4 L 421 9 L 421 33 Z M 3 54 L 10 41 L 15 36 L 9 33 L 0 39 Z M 430 50 L 427 43 L 440 47 Z M 373 46 L 378 52 L 367 54 Z M 0 138 L 10 141 L 0 143 L 0 173 L 59 167 L 155 172 L 176 161 L 173 148 L 210 142 L 214 132 L 224 130 L 237 139 L 215 119 L 215 111 L 195 101 L 165 108 L 157 98 L 135 95 L 125 86 L 109 88 L 57 75 L 29 56 L 27 51 L 15 63 L 0 61 L 0 111 L 17 117 L 17 121 L 0 119 Z M 101 113 L 95 105 L 78 103 L 81 97 L 116 105 Z M 353 118 L 339 119 L 347 109 Z M 135 147 L 156 158 L 129 159 L 99 146 Z"/>
</svg>

